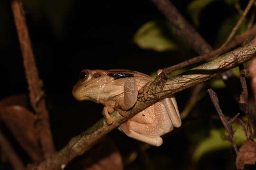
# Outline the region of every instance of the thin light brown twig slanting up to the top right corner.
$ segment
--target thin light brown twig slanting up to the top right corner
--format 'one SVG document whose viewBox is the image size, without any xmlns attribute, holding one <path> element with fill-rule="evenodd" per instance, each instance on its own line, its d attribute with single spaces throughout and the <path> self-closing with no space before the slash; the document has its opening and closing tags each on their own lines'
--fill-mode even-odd
<svg viewBox="0 0 256 170">
<path fill-rule="evenodd" d="M 253 6 L 255 0 L 250 0 L 249 3 L 247 4 L 247 7 L 245 9 L 245 11 L 243 12 L 242 16 L 240 17 L 240 19 L 238 20 L 237 25 L 232 29 L 231 33 L 229 34 L 229 37 L 226 39 L 226 41 L 222 44 L 221 47 L 224 47 L 225 45 L 227 45 L 227 43 L 230 42 L 230 40 L 233 38 L 233 36 L 237 33 L 238 28 L 241 26 L 242 22 L 244 21 L 247 13 L 249 12 L 250 8 Z"/>
</svg>

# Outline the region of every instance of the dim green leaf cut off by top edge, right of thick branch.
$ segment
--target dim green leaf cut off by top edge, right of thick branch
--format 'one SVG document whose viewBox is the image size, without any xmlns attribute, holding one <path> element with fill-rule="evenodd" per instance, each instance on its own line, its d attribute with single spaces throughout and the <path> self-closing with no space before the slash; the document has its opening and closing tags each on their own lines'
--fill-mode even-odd
<svg viewBox="0 0 256 170">
<path fill-rule="evenodd" d="M 188 13 L 196 26 L 199 25 L 199 16 L 203 8 L 215 0 L 193 0 L 188 6 Z"/>
</svg>

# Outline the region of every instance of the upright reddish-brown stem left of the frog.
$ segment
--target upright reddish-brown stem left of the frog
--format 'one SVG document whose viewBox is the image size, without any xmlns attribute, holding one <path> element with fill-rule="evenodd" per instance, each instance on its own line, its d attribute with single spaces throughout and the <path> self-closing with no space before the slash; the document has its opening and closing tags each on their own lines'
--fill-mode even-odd
<svg viewBox="0 0 256 170">
<path fill-rule="evenodd" d="M 55 147 L 50 130 L 46 102 L 44 98 L 41 98 L 42 94 L 44 93 L 42 91 L 43 82 L 38 77 L 37 66 L 28 34 L 22 2 L 20 0 L 12 0 L 11 7 L 18 32 L 18 40 L 22 52 L 28 89 L 30 91 L 30 103 L 35 112 L 38 114 L 37 127 L 40 136 L 40 143 L 45 154 L 45 158 L 47 158 L 55 152 Z"/>
</svg>

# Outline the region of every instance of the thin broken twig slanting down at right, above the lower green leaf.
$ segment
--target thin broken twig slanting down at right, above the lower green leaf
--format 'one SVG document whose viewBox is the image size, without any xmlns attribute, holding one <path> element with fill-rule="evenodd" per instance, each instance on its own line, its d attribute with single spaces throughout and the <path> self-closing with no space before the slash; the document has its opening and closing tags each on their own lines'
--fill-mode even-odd
<svg viewBox="0 0 256 170">
<path fill-rule="evenodd" d="M 238 147 L 233 139 L 234 131 L 219 107 L 219 99 L 217 97 L 217 94 L 211 89 L 208 89 L 208 93 L 210 94 L 210 99 L 213 102 L 213 105 L 215 106 L 215 109 L 219 114 L 219 118 L 221 119 L 222 124 L 224 125 L 225 129 L 228 132 L 228 136 L 225 136 L 225 138 L 233 145 L 235 152 L 238 154 Z"/>
</svg>

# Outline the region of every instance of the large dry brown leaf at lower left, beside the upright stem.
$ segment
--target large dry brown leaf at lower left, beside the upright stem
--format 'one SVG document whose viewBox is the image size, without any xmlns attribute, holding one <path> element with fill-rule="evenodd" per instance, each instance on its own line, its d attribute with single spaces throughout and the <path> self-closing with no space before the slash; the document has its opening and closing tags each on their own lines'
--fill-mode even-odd
<svg viewBox="0 0 256 170">
<path fill-rule="evenodd" d="M 18 105 L 3 106 L 0 107 L 0 119 L 34 161 L 42 160 L 35 127 L 36 117 L 30 110 Z"/>
</svg>

